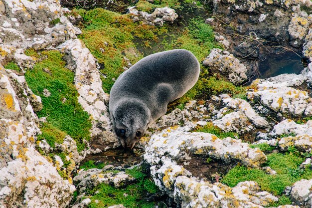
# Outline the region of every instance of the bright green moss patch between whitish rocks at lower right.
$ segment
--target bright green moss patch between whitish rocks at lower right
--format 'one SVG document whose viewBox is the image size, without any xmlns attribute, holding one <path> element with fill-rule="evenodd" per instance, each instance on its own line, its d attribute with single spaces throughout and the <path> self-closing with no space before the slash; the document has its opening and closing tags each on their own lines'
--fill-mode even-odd
<svg viewBox="0 0 312 208">
<path fill-rule="evenodd" d="M 271 167 L 277 172 L 277 175 L 268 175 L 262 170 L 238 165 L 223 177 L 222 183 L 234 187 L 239 182 L 255 181 L 263 191 L 281 195 L 287 186 L 292 186 L 296 181 L 312 178 L 312 170 L 310 168 L 303 169 L 302 174 L 293 174 L 304 161 L 301 157 L 280 153 L 272 153 L 267 155 L 267 157 L 268 162 L 264 166 Z"/>
</svg>

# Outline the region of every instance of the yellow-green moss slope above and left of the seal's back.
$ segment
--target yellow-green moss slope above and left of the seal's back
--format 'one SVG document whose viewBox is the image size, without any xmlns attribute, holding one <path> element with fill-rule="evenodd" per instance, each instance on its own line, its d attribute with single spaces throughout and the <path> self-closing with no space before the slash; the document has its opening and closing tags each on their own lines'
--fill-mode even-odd
<svg viewBox="0 0 312 208">
<path fill-rule="evenodd" d="M 134 38 L 157 41 L 158 35 L 166 32 L 166 26 L 133 22 L 129 14 L 119 14 L 102 8 L 93 10 L 75 10 L 84 20 L 84 28 L 80 39 L 103 66 L 103 89 L 109 92 L 114 79 L 128 66 L 124 56 L 136 63 L 143 56 L 136 49 Z M 137 55 L 135 55 L 137 53 Z M 106 77 L 106 78 L 105 78 Z"/>
</svg>

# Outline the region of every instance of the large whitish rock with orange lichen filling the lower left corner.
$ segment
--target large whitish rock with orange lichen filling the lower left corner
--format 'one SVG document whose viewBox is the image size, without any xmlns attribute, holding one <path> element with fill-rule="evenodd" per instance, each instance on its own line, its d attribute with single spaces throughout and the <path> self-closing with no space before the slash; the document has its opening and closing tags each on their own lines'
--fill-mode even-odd
<svg viewBox="0 0 312 208">
<path fill-rule="evenodd" d="M 34 148 L 37 117 L 22 80 L 0 65 L 0 205 L 65 207 L 75 188 Z"/>
</svg>

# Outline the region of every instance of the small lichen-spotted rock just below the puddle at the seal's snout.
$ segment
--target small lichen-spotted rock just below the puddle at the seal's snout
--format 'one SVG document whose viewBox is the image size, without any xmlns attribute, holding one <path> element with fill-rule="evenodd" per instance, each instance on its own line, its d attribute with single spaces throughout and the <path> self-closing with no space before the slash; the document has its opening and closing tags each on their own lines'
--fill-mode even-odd
<svg viewBox="0 0 312 208">
<path fill-rule="evenodd" d="M 73 181 L 78 184 L 76 187 L 80 194 L 102 183 L 120 188 L 126 187 L 135 180 L 134 177 L 126 174 L 124 171 L 112 169 L 111 166 L 104 167 L 102 170 L 81 170 L 73 179 Z"/>
</svg>

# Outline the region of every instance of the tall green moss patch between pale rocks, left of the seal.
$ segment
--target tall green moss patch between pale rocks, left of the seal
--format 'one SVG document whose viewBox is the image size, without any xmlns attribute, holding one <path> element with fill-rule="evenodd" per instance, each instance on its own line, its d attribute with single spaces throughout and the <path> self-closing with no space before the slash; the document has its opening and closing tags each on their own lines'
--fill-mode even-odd
<svg viewBox="0 0 312 208">
<path fill-rule="evenodd" d="M 47 118 L 38 139 L 45 138 L 54 147 L 55 142 L 62 143 L 68 134 L 76 141 L 78 151 L 81 151 L 84 149 L 83 140 L 90 139 L 92 124 L 89 115 L 78 103 L 79 95 L 73 85 L 74 74 L 65 68 L 66 63 L 59 51 L 42 51 L 41 54 L 47 58 L 25 73 L 30 89 L 42 99 L 43 108 L 37 115 Z M 51 74 L 44 72 L 44 68 L 49 69 Z M 50 91 L 49 97 L 43 95 L 44 89 Z"/>
</svg>

